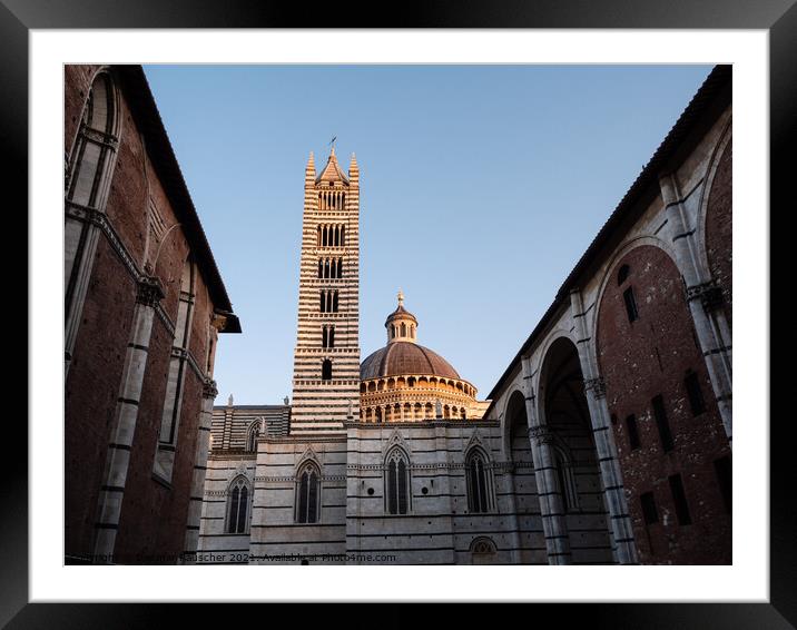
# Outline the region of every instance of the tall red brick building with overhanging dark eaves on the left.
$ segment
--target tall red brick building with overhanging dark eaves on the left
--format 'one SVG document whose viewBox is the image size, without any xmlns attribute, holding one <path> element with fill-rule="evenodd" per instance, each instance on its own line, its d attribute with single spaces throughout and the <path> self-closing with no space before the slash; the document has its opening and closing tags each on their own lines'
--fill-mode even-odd
<svg viewBox="0 0 797 630">
<path fill-rule="evenodd" d="M 195 551 L 240 325 L 139 66 L 65 67 L 66 561 Z"/>
</svg>

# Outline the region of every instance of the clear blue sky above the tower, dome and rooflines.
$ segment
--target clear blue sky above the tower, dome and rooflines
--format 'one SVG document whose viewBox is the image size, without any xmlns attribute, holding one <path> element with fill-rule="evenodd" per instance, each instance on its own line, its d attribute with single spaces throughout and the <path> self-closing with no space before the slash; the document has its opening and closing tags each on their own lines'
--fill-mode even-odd
<svg viewBox="0 0 797 630">
<path fill-rule="evenodd" d="M 485 396 L 708 66 L 147 66 L 243 335 L 219 398 L 291 395 L 304 168 L 361 169 L 362 358 L 401 287 Z"/>
</svg>

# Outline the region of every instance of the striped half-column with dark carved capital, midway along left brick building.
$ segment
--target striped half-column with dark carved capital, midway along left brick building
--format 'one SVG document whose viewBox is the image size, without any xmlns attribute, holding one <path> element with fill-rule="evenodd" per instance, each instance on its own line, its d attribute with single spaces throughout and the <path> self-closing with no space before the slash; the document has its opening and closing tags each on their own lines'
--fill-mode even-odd
<svg viewBox="0 0 797 630">
<path fill-rule="evenodd" d="M 125 496 L 130 450 L 138 420 L 138 403 L 147 367 L 149 339 L 152 332 L 155 307 L 164 298 L 164 289 L 156 277 L 144 277 L 138 283 L 132 333 L 127 344 L 121 390 L 117 401 L 115 423 L 110 442 L 102 486 L 99 494 L 99 516 L 95 524 L 95 563 L 114 563 L 116 534 L 119 529 L 121 502 Z"/>
</svg>

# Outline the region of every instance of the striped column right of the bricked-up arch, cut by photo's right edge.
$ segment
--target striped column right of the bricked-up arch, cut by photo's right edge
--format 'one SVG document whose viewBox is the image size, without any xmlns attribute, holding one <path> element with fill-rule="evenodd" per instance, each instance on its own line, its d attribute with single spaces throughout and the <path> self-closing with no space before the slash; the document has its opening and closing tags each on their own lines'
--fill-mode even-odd
<svg viewBox="0 0 797 630">
<path fill-rule="evenodd" d="M 667 220 L 672 226 L 672 247 L 676 263 L 687 285 L 687 303 L 695 322 L 700 350 L 706 360 L 711 386 L 714 387 L 719 414 L 728 436 L 732 439 L 734 373 L 731 367 L 731 334 L 722 312 L 722 292 L 701 273 L 698 262 L 696 228 L 688 225 L 686 208 L 673 175 L 659 178 L 661 198 L 665 201 Z"/>
</svg>

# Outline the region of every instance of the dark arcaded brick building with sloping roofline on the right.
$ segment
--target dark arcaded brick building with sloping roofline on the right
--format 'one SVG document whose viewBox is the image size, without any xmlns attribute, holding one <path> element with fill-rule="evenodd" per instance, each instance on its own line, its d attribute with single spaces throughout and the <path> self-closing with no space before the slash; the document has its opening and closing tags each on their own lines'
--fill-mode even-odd
<svg viewBox="0 0 797 630">
<path fill-rule="evenodd" d="M 529 432 L 549 559 L 592 475 L 619 561 L 731 562 L 731 69 L 718 66 L 488 396 Z"/>
</svg>

